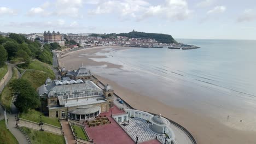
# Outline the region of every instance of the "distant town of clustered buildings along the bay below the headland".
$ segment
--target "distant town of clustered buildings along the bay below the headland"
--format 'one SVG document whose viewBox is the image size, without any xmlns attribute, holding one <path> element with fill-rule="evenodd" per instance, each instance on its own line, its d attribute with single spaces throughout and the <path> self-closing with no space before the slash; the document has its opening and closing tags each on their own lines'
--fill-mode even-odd
<svg viewBox="0 0 256 144">
<path fill-rule="evenodd" d="M 8 33 L 0 33 L 7 36 Z M 76 47 L 94 47 L 94 46 L 131 46 L 131 47 L 162 47 L 170 46 L 167 43 L 159 43 L 155 39 L 150 38 L 128 38 L 123 36 L 116 36 L 110 38 L 102 38 L 105 34 L 97 34 L 98 37 L 91 36 L 91 33 L 86 34 L 63 34 L 60 32 L 44 32 L 44 33 L 31 33 L 22 34 L 29 40 L 38 40 L 41 43 L 57 43 L 62 47 L 62 51 L 68 48 L 73 49 Z M 58 36 L 56 36 L 58 35 Z M 55 37 L 58 37 L 55 39 Z M 72 42 L 72 43 L 70 43 Z"/>
</svg>

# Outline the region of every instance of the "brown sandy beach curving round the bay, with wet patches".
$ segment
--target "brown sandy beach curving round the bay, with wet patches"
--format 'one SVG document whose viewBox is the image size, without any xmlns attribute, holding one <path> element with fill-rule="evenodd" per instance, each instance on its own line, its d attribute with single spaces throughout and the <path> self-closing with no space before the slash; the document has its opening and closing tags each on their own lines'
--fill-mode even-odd
<svg viewBox="0 0 256 144">
<path fill-rule="evenodd" d="M 121 64 L 113 64 L 108 61 L 94 61 L 95 59 L 106 58 L 106 56 L 98 55 L 98 53 L 109 53 L 110 48 L 111 47 L 94 47 L 67 53 L 59 59 L 60 67 L 65 67 L 67 70 L 73 70 L 78 69 L 83 63 L 83 65 L 86 65 L 86 67 L 89 69 L 92 68 L 92 74 L 94 74 L 99 80 L 104 83 L 110 83 L 110 85 L 114 88 L 114 92 L 117 93 L 131 106 L 135 107 L 135 109 L 153 113 L 161 113 L 161 115 L 183 125 L 183 127 L 188 129 L 194 136 L 197 143 L 256 143 L 256 132 L 242 128 L 239 129 L 239 127 L 236 126 L 240 124 L 239 122 L 229 122 L 232 120 L 228 121 L 225 118 L 222 118 L 220 121 L 223 122 L 220 122 L 216 120 L 218 118 L 214 119 L 210 117 L 210 113 L 206 116 L 200 112 L 195 112 L 191 109 L 188 109 L 186 106 L 183 108 L 183 106 L 167 105 L 158 97 L 149 96 L 147 92 L 144 92 L 144 89 L 137 89 L 137 91 L 135 91 L 134 88 L 129 88 L 127 86 L 125 87 L 121 84 L 122 82 L 129 81 L 113 81 L 112 79 L 109 79 L 109 77 L 113 77 L 115 74 L 117 74 L 117 69 L 119 75 L 126 75 L 126 70 L 122 69 L 123 66 Z M 111 51 L 120 51 L 125 49 L 132 48 L 113 47 Z M 108 54 L 108 56 L 111 56 L 111 54 Z M 106 70 L 106 73 L 97 73 L 95 71 L 104 71 L 104 69 L 108 69 L 108 71 Z M 115 71 L 115 73 L 109 73 L 109 70 Z M 104 74 L 108 74 L 108 76 L 104 76 Z M 129 79 L 128 74 L 127 79 Z M 145 84 L 145 87 L 145 89 L 152 88 L 147 84 Z M 171 90 L 174 91 L 175 89 Z"/>
</svg>

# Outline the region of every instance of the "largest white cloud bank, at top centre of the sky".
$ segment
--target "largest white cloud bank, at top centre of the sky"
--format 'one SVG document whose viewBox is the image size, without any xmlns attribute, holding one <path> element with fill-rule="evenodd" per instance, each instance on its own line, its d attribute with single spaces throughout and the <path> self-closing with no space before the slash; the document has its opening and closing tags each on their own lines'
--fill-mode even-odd
<svg viewBox="0 0 256 144">
<path fill-rule="evenodd" d="M 192 11 L 185 0 L 166 0 L 165 3 L 152 5 L 143 0 L 110 0 L 99 3 L 89 14 L 118 14 L 122 19 L 133 17 L 136 20 L 148 17 L 162 17 L 170 20 L 184 20 Z"/>
</svg>

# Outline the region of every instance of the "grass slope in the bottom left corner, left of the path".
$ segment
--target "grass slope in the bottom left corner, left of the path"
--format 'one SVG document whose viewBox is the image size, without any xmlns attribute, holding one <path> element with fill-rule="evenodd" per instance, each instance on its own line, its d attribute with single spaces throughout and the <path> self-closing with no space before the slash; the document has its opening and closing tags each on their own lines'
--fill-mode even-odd
<svg viewBox="0 0 256 144">
<path fill-rule="evenodd" d="M 11 132 L 6 129 L 4 119 L 0 121 L 0 144 L 15 144 L 19 143 Z"/>
</svg>

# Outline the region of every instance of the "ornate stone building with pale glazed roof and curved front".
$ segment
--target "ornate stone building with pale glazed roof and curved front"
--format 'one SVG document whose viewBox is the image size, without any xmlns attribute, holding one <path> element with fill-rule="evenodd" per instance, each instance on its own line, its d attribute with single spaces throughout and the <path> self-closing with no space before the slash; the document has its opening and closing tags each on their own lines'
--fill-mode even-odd
<svg viewBox="0 0 256 144">
<path fill-rule="evenodd" d="M 71 118 L 85 121 L 108 112 L 113 106 L 114 90 L 107 85 L 104 89 L 90 80 L 51 80 L 38 88 L 40 109 L 49 117 Z"/>
</svg>

